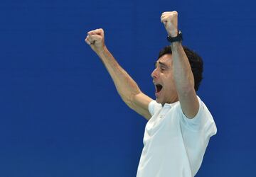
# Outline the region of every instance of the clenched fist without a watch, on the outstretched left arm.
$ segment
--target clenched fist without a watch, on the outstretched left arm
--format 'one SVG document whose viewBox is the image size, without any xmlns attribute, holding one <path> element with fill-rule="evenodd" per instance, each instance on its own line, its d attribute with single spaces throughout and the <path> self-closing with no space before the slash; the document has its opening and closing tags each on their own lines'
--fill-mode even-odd
<svg viewBox="0 0 256 177">
<path fill-rule="evenodd" d="M 102 52 L 105 47 L 104 30 L 100 28 L 89 31 L 87 33 L 87 37 L 85 38 L 85 42 L 90 45 L 92 50 L 94 50 L 96 53 Z"/>
</svg>

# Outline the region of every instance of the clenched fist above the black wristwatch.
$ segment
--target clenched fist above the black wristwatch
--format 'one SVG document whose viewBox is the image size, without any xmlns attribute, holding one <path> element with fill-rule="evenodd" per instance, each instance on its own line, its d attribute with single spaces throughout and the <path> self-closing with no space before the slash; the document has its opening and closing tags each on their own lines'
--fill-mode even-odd
<svg viewBox="0 0 256 177">
<path fill-rule="evenodd" d="M 161 23 L 164 23 L 168 35 L 171 37 L 176 37 L 178 35 L 178 12 L 167 11 L 162 13 Z"/>
</svg>

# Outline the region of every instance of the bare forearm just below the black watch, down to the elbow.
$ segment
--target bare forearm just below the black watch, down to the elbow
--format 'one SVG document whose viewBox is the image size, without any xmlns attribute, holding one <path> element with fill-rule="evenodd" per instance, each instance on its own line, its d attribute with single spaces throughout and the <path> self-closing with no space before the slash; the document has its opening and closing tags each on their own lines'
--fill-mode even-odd
<svg viewBox="0 0 256 177">
<path fill-rule="evenodd" d="M 173 64 L 174 64 L 174 80 L 178 95 L 193 91 L 194 78 L 188 57 L 183 50 L 181 42 L 171 43 Z"/>
</svg>

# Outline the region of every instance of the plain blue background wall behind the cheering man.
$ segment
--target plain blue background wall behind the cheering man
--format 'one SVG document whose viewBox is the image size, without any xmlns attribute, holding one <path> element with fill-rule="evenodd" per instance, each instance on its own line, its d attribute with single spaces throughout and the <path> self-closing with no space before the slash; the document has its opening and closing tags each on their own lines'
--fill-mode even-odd
<svg viewBox="0 0 256 177">
<path fill-rule="evenodd" d="M 122 102 L 86 33 L 104 28 L 119 64 L 154 98 L 151 72 L 176 10 L 205 62 L 215 118 L 196 176 L 256 176 L 255 2 L 0 1 L 0 176 L 136 176 L 146 120 Z"/>
</svg>

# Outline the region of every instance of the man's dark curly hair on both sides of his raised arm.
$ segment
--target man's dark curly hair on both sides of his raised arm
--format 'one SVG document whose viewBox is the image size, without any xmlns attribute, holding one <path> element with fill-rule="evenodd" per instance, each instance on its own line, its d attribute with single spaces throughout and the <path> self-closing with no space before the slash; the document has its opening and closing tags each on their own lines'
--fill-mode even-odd
<svg viewBox="0 0 256 177">
<path fill-rule="evenodd" d="M 191 70 L 195 80 L 195 90 L 198 91 L 199 85 L 203 79 L 203 59 L 196 52 L 188 49 L 186 46 L 183 46 L 183 50 L 185 51 L 191 65 Z M 166 54 L 172 54 L 171 46 L 164 47 L 159 52 L 159 58 Z"/>
</svg>

